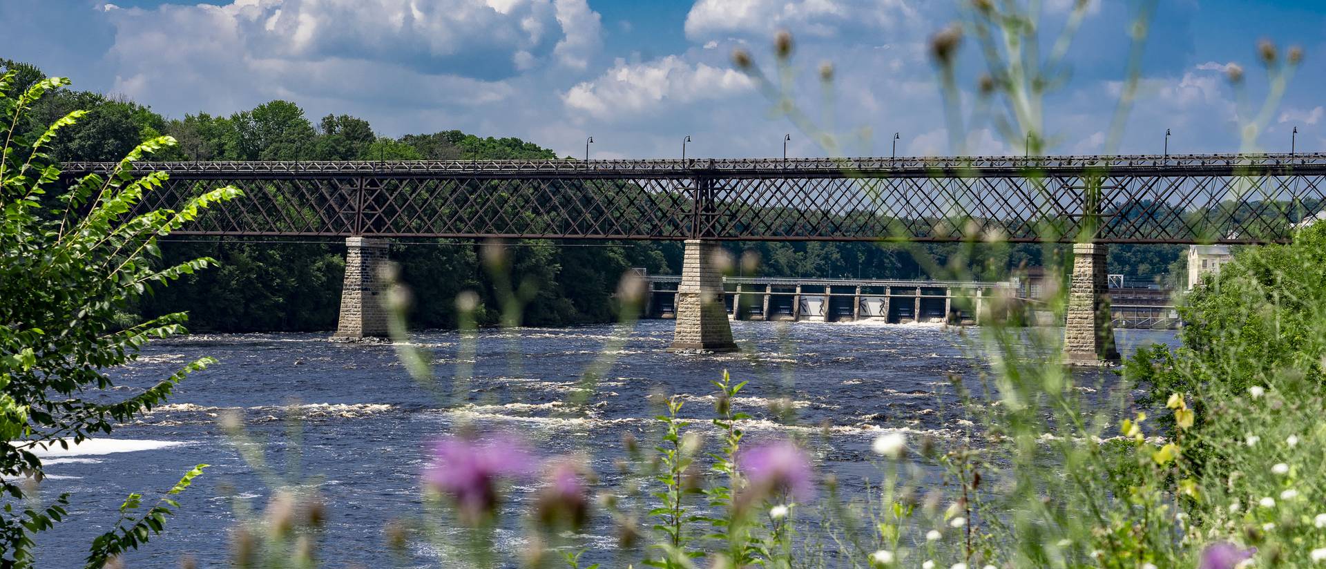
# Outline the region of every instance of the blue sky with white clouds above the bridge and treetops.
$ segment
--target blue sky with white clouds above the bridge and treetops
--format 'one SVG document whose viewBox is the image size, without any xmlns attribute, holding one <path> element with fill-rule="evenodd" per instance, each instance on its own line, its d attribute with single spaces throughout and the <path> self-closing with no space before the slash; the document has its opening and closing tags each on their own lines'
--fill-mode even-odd
<svg viewBox="0 0 1326 569">
<path fill-rule="evenodd" d="M 1029 3 L 1033 0 L 1018 0 Z M 1042 52 L 1074 0 L 1040 0 Z M 796 37 L 796 106 L 845 154 L 1021 154 L 1020 135 L 975 103 L 985 72 L 968 34 L 957 58 L 963 123 L 945 119 L 934 33 L 965 0 L 0 0 L 0 57 L 127 95 L 170 115 L 229 114 L 285 98 L 312 119 L 347 113 L 382 134 L 447 129 L 520 137 L 595 158 L 825 155 L 774 113 L 733 49 L 764 69 L 772 38 Z M 1041 105 L 1050 151 L 1106 150 L 1140 0 L 1091 0 Z M 1326 3 L 1158 0 L 1142 88 L 1119 153 L 1326 151 Z M 1278 105 L 1257 41 L 1306 53 Z M 834 64 L 823 97 L 817 69 Z M 1229 64 L 1246 73 L 1242 88 Z M 997 109 L 1006 109 L 996 105 Z M 1260 122 L 1258 121 L 1260 117 Z M 1016 129 L 1014 129 L 1016 130 Z M 961 133 L 953 135 L 952 133 Z"/>
</svg>

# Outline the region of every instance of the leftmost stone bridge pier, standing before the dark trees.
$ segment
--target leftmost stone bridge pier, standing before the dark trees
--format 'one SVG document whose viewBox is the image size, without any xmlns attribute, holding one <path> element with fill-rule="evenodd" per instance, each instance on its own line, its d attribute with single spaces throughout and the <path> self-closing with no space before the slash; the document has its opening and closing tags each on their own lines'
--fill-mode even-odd
<svg viewBox="0 0 1326 569">
<path fill-rule="evenodd" d="M 387 308 L 382 304 L 386 283 L 378 275 L 378 267 L 387 260 L 387 241 L 346 237 L 345 248 L 341 321 L 332 338 L 345 341 L 386 338 Z"/>
</svg>

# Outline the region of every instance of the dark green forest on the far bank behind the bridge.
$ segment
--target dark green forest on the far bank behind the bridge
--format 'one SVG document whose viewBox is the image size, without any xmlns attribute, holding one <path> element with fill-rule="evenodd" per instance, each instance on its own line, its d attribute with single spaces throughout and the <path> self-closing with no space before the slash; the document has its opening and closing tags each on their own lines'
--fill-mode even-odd
<svg viewBox="0 0 1326 569">
<path fill-rule="evenodd" d="M 19 86 L 40 80 L 34 66 L 0 60 L 20 73 Z M 41 99 L 21 125 L 25 134 L 45 130 L 72 110 L 86 109 L 78 125 L 61 130 L 53 145 L 61 160 L 118 160 L 141 141 L 168 134 L 179 145 L 159 160 L 353 160 L 353 159 L 550 159 L 545 147 L 518 138 L 481 138 L 460 130 L 386 137 L 369 121 L 346 114 L 308 117 L 290 101 L 269 101 L 231 115 L 207 113 L 167 118 L 150 106 L 99 93 L 61 90 Z M 631 267 L 675 273 L 682 244 L 554 243 L 508 244 L 511 283 L 530 283 L 525 325 L 553 326 L 615 318 L 611 294 Z M 1040 245 L 884 243 L 740 243 L 731 244 L 741 275 L 955 279 L 975 275 L 997 280 L 1017 267 L 1041 264 Z M 137 314 L 150 317 L 187 310 L 195 332 L 328 330 L 335 328 L 343 272 L 343 243 L 179 237 L 160 244 L 162 261 L 175 264 L 202 255 L 220 267 L 183 279 L 141 301 Z M 748 252 L 753 252 L 751 255 Z M 1162 279 L 1180 256 L 1176 245 L 1111 248 L 1111 272 L 1144 280 Z M 480 261 L 479 245 L 457 240 L 411 240 L 394 244 L 391 257 L 412 289 L 411 325 L 456 325 L 456 294 L 476 290 L 485 310 L 483 324 L 497 321 L 493 275 Z"/>
</svg>

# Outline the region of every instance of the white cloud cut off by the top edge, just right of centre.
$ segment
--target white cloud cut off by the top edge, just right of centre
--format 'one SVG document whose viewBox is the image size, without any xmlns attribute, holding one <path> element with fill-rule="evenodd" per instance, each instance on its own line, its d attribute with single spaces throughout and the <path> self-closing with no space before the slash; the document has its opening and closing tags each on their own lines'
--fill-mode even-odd
<svg viewBox="0 0 1326 569">
<path fill-rule="evenodd" d="M 915 16 L 907 0 L 697 0 L 686 36 L 768 36 L 778 29 L 830 37 L 846 29 L 883 28 Z"/>
</svg>

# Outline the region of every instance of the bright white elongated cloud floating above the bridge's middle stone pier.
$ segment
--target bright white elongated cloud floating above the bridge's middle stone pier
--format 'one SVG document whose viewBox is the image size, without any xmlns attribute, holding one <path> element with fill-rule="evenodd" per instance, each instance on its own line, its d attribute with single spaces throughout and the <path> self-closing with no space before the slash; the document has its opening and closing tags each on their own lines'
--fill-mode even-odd
<svg viewBox="0 0 1326 569">
<path fill-rule="evenodd" d="M 617 60 L 602 77 L 573 86 L 562 95 L 569 109 L 598 119 L 648 114 L 663 106 L 724 98 L 751 90 L 753 82 L 735 69 L 695 64 L 678 56 L 644 64 Z"/>
</svg>

